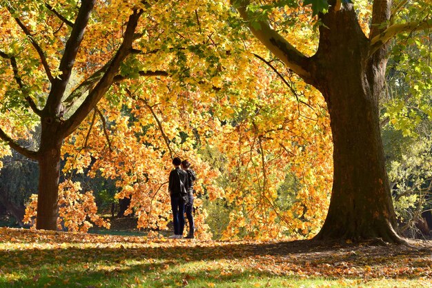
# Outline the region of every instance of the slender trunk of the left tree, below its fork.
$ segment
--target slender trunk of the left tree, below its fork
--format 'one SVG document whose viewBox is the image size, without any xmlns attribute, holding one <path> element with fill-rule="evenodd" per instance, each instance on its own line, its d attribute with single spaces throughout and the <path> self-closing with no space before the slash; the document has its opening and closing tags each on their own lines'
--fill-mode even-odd
<svg viewBox="0 0 432 288">
<path fill-rule="evenodd" d="M 42 123 L 36 228 L 57 230 L 62 137 L 50 126 Z"/>
</svg>

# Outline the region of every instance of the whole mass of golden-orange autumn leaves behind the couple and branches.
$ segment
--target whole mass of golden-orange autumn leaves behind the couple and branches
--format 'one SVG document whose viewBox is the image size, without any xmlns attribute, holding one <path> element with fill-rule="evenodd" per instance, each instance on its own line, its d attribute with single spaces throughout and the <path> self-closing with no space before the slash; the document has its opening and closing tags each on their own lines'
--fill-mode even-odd
<svg viewBox="0 0 432 288">
<path fill-rule="evenodd" d="M 70 3 L 54 2 L 56 7 L 75 9 Z M 272 61 L 297 91 L 293 94 L 268 65 L 253 56 L 272 57 L 248 32 L 227 23 L 233 17 L 229 1 L 150 3 L 97 1 L 75 61 L 77 81 L 68 89 L 77 88 L 81 79 L 112 58 L 135 7 L 144 10 L 137 28 L 142 36 L 134 42 L 134 49 L 141 52 L 128 57 L 120 72 L 130 73 L 130 79 L 114 85 L 98 103 L 104 119 L 97 116 L 92 123 L 90 113 L 65 139 L 63 173 L 88 171 L 90 177 L 100 174 L 115 179 L 119 191 L 115 198 L 130 198 L 126 214 L 135 211 L 139 228 L 166 229 L 171 218 L 168 174 L 173 168 L 171 159 L 180 156 L 193 163 L 198 175 L 195 225 L 199 238 L 211 237 L 204 201 L 216 199 L 226 199 L 231 209 L 225 238 L 240 233 L 264 239 L 312 236 L 325 217 L 333 169 L 328 161 L 331 136 L 322 96 Z M 53 74 L 58 75 L 69 28 L 52 14 L 41 21 L 41 8 L 32 1 L 28 5 L 35 13 L 23 15 L 23 21 L 32 32 L 40 31 L 35 37 L 46 51 Z M 310 29 L 313 19 L 308 9 L 275 9 L 270 17 L 280 20 L 295 15 L 299 21 L 293 27 L 279 28 L 286 39 L 295 39 L 297 49 L 310 55 L 317 34 Z M 1 46 L 10 49 L 7 52 L 26 48 L 19 51 L 23 56 L 19 65 L 37 60 L 37 52 L 12 17 L 1 21 Z M 0 65 L 5 79 L 14 83 L 9 65 Z M 35 85 L 32 96 L 41 105 L 50 83 L 41 67 L 31 67 L 32 78 L 23 75 L 23 81 Z M 169 76 L 139 77 L 138 72 L 149 71 L 169 72 Z M 8 85 L 0 83 L 1 101 Z M 23 125 L 15 129 L 16 122 L 8 116 L 0 116 L 0 126 L 14 138 L 26 134 Z M 215 160 L 226 161 L 224 171 L 203 160 L 206 147 L 224 156 Z M 0 146 L 2 153 L 8 151 Z M 284 211 L 278 201 L 287 174 L 295 175 L 300 183 L 295 203 Z M 224 175 L 228 177 L 222 185 L 218 180 Z M 92 225 L 88 220 L 109 226 L 97 217 L 92 193 L 82 193 L 79 183 L 66 181 L 59 192 L 62 225 L 71 231 L 86 231 Z M 27 222 L 36 214 L 35 203 L 32 196 Z"/>
</svg>

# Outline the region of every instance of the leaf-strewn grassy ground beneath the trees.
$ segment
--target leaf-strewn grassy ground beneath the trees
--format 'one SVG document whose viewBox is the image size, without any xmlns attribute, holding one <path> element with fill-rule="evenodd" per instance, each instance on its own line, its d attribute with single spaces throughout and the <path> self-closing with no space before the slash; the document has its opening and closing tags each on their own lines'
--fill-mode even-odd
<svg viewBox="0 0 432 288">
<path fill-rule="evenodd" d="M 432 243 L 382 244 L 0 228 L 0 287 L 432 287 Z"/>
</svg>

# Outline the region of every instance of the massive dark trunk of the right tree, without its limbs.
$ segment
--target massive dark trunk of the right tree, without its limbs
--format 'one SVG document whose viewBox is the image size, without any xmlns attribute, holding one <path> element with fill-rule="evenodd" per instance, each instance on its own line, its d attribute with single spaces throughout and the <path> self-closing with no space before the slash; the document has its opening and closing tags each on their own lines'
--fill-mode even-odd
<svg viewBox="0 0 432 288">
<path fill-rule="evenodd" d="M 334 178 L 328 215 L 315 238 L 401 242 L 379 126 L 386 63 L 368 56 L 369 40 L 352 9 L 322 19 L 315 81 L 331 119 Z"/>
</svg>

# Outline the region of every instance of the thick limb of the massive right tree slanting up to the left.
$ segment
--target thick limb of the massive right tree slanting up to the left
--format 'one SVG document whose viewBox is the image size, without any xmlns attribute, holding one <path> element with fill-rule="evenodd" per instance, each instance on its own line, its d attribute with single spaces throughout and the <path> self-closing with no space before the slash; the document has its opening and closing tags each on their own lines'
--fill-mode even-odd
<svg viewBox="0 0 432 288">
<path fill-rule="evenodd" d="M 311 81 L 311 72 L 309 71 L 309 58 L 297 50 L 291 43 L 288 43 L 284 37 L 277 33 L 267 21 L 255 21 L 253 24 L 252 17 L 249 16 L 246 7 L 249 0 L 231 0 L 240 16 L 247 22 L 248 28 L 263 43 L 268 50 L 273 52 L 277 58 L 281 59 L 284 64 L 298 74 L 305 81 Z"/>
</svg>

